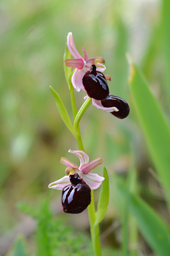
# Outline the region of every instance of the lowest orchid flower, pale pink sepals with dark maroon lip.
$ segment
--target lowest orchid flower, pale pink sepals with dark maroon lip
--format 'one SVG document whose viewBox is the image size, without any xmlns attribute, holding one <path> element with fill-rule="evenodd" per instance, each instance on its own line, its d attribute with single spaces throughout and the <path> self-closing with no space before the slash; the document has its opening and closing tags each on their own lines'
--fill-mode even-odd
<svg viewBox="0 0 170 256">
<path fill-rule="evenodd" d="M 61 157 L 61 163 L 66 166 L 66 174 L 62 179 L 49 184 L 49 188 L 62 190 L 62 210 L 65 213 L 81 213 L 91 203 L 91 190 L 97 189 L 105 179 L 98 174 L 89 173 L 103 163 L 102 157 L 89 162 L 89 156 L 81 150 L 72 151 L 80 159 L 80 166 L 73 164 L 67 158 Z"/>
</svg>

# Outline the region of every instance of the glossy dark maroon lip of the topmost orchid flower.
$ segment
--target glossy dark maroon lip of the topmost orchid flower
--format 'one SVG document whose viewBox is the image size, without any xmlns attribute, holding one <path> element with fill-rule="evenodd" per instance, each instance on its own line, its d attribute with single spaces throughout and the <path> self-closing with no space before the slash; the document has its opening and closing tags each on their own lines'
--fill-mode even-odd
<svg viewBox="0 0 170 256">
<path fill-rule="evenodd" d="M 106 77 L 103 73 L 96 71 L 96 66 L 92 65 L 91 70 L 83 76 L 83 85 L 90 98 L 103 100 L 109 94 Z"/>
</svg>

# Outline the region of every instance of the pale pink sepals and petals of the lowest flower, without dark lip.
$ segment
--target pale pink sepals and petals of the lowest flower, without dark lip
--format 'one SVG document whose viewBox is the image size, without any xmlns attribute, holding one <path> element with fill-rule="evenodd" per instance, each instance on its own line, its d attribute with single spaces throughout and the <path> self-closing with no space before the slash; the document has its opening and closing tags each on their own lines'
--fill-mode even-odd
<svg viewBox="0 0 170 256">
<path fill-rule="evenodd" d="M 97 173 L 89 173 L 91 170 L 95 169 L 98 165 L 103 163 L 102 157 L 97 157 L 95 160 L 89 162 L 89 156 L 84 153 L 82 150 L 69 150 L 69 153 L 77 155 L 80 159 L 80 166 L 70 162 L 67 158 L 61 157 L 61 163 L 64 164 L 67 168 L 65 170 L 66 174 L 60 180 L 56 180 L 48 185 L 49 188 L 54 188 L 62 190 L 64 187 L 71 184 L 69 175 L 78 173 L 79 177 L 83 179 L 84 182 L 90 187 L 91 190 L 97 189 L 101 182 L 105 179 L 104 177 L 99 176 Z"/>
</svg>

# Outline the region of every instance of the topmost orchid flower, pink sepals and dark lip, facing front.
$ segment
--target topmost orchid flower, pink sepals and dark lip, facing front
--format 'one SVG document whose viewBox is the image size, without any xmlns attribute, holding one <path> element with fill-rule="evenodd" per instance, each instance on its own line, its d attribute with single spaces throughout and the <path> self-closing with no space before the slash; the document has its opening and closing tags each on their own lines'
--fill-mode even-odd
<svg viewBox="0 0 170 256">
<path fill-rule="evenodd" d="M 72 33 L 67 36 L 67 47 L 74 59 L 66 59 L 65 65 L 75 67 L 72 76 L 72 85 L 79 92 L 86 91 L 90 98 L 102 100 L 109 94 L 105 75 L 102 73 L 106 67 L 99 62 L 105 62 L 102 57 L 88 59 L 87 52 L 82 47 L 84 59 L 76 49 Z M 99 61 L 99 62 L 98 62 Z"/>
</svg>

